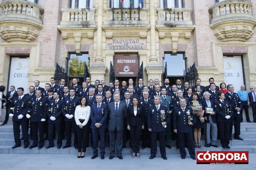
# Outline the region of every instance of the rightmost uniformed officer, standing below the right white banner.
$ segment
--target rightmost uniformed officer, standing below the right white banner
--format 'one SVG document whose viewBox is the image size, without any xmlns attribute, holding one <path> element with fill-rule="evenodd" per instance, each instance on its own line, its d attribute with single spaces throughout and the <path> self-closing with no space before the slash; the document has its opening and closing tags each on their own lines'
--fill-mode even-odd
<svg viewBox="0 0 256 170">
<path fill-rule="evenodd" d="M 230 122 L 230 139 L 232 139 L 232 129 L 233 129 L 233 122 L 234 122 L 234 139 L 238 140 L 244 140 L 240 135 L 240 123 L 241 123 L 241 116 L 240 111 L 242 107 L 242 102 L 240 98 L 238 97 L 237 93 L 234 92 L 234 86 L 233 85 L 227 85 L 228 92 L 225 94 L 225 100 L 230 103 L 230 105 L 233 108 L 233 115 L 231 116 L 231 122 Z"/>
</svg>

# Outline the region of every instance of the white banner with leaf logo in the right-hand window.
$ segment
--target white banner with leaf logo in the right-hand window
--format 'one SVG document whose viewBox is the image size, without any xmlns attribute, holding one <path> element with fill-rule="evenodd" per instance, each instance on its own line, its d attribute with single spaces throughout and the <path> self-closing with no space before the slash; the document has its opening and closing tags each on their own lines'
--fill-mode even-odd
<svg viewBox="0 0 256 170">
<path fill-rule="evenodd" d="M 241 56 L 227 57 L 223 56 L 224 63 L 224 80 L 225 83 L 232 84 L 235 91 L 240 90 L 241 85 L 244 85 L 244 75 Z"/>
</svg>

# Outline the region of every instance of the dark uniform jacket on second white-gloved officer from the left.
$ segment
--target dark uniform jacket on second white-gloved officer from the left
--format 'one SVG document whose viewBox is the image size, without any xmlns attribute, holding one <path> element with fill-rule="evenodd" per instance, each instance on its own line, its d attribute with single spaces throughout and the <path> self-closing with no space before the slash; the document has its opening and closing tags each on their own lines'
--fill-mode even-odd
<svg viewBox="0 0 256 170">
<path fill-rule="evenodd" d="M 28 103 L 28 114 L 31 116 L 30 122 L 41 122 L 41 119 L 47 119 L 48 100 L 41 97 L 37 102 L 35 98 Z"/>
</svg>

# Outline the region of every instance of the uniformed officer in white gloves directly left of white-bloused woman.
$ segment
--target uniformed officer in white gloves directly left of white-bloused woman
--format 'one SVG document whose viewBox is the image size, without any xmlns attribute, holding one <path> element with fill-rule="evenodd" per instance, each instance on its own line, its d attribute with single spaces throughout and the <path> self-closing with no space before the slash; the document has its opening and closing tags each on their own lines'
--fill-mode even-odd
<svg viewBox="0 0 256 170">
<path fill-rule="evenodd" d="M 74 147 L 77 149 L 77 136 L 76 136 L 76 130 L 75 130 L 75 110 L 76 106 L 80 105 L 79 103 L 79 97 L 76 96 L 76 91 L 73 88 L 69 89 L 70 97 L 66 98 L 64 100 L 64 104 L 62 107 L 62 114 L 65 116 L 65 134 L 66 134 L 66 144 L 62 148 L 68 148 L 71 147 L 71 131 L 72 128 L 74 129 Z"/>
</svg>

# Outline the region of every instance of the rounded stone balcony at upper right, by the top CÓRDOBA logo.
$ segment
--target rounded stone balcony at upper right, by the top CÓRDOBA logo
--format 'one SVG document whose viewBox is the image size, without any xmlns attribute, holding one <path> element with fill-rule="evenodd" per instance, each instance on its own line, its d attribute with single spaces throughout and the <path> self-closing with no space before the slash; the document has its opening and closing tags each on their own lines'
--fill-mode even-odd
<svg viewBox="0 0 256 170">
<path fill-rule="evenodd" d="M 210 27 L 221 41 L 246 41 L 256 26 L 250 0 L 227 0 L 212 5 Z"/>
</svg>

